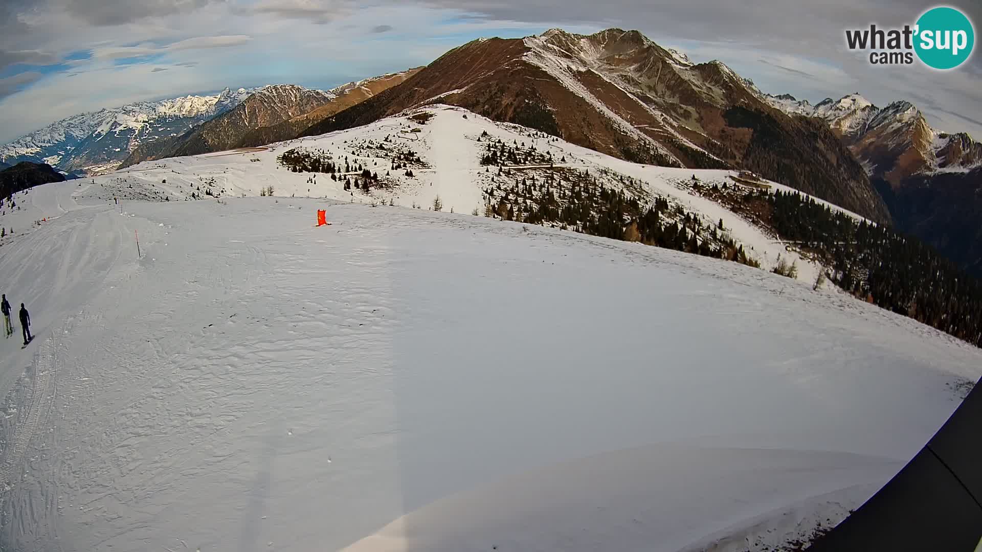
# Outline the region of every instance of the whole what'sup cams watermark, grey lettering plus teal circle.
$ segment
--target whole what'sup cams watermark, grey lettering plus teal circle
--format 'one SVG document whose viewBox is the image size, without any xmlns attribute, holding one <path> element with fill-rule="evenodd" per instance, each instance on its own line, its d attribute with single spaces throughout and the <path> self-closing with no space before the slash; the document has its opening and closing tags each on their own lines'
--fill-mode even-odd
<svg viewBox="0 0 982 552">
<path fill-rule="evenodd" d="M 930 68 L 955 69 L 972 55 L 975 28 L 959 10 L 939 6 L 921 14 L 912 26 L 847 29 L 846 46 L 869 50 L 873 65 L 911 65 L 916 55 Z"/>
</svg>

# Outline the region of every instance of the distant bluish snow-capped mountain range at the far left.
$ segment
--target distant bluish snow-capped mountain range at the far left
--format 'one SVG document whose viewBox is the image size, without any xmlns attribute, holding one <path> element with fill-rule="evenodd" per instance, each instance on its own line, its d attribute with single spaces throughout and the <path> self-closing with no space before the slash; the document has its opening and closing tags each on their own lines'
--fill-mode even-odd
<svg viewBox="0 0 982 552">
<path fill-rule="evenodd" d="M 226 88 L 211 96 L 189 95 L 82 113 L 0 146 L 0 161 L 47 163 L 82 175 L 109 172 L 138 145 L 180 136 L 236 107 L 254 90 Z"/>
</svg>

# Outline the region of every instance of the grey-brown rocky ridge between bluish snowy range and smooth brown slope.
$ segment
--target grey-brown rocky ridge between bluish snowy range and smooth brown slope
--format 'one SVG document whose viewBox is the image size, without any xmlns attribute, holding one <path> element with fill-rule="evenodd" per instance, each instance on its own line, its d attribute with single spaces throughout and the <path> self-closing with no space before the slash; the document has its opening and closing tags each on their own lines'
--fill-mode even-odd
<svg viewBox="0 0 982 552">
<path fill-rule="evenodd" d="M 234 108 L 192 128 L 183 135 L 136 147 L 121 167 L 140 161 L 197 155 L 236 147 L 247 132 L 308 113 L 337 96 L 296 84 L 263 86 Z"/>
</svg>

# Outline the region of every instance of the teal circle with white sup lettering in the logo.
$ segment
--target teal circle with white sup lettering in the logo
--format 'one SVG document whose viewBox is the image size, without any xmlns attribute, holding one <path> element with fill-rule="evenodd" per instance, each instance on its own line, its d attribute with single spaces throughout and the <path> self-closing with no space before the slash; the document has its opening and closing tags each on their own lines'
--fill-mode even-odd
<svg viewBox="0 0 982 552">
<path fill-rule="evenodd" d="M 955 8 L 931 8 L 916 25 L 914 51 L 928 67 L 954 69 L 972 54 L 975 29 L 972 22 Z"/>
</svg>

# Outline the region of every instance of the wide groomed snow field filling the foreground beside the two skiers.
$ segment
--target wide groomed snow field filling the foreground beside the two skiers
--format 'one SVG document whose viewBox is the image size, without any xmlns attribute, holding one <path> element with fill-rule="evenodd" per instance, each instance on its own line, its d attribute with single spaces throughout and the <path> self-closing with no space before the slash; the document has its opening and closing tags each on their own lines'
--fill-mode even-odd
<svg viewBox="0 0 982 552">
<path fill-rule="evenodd" d="M 164 166 L 305 189 L 275 154 Z M 106 200 L 176 194 L 171 170 L 0 217 L 37 336 L 0 340 L 0 549 L 780 549 L 980 375 L 954 338 L 734 262 L 352 197 Z M 400 201 L 480 169 L 457 170 Z"/>
</svg>

